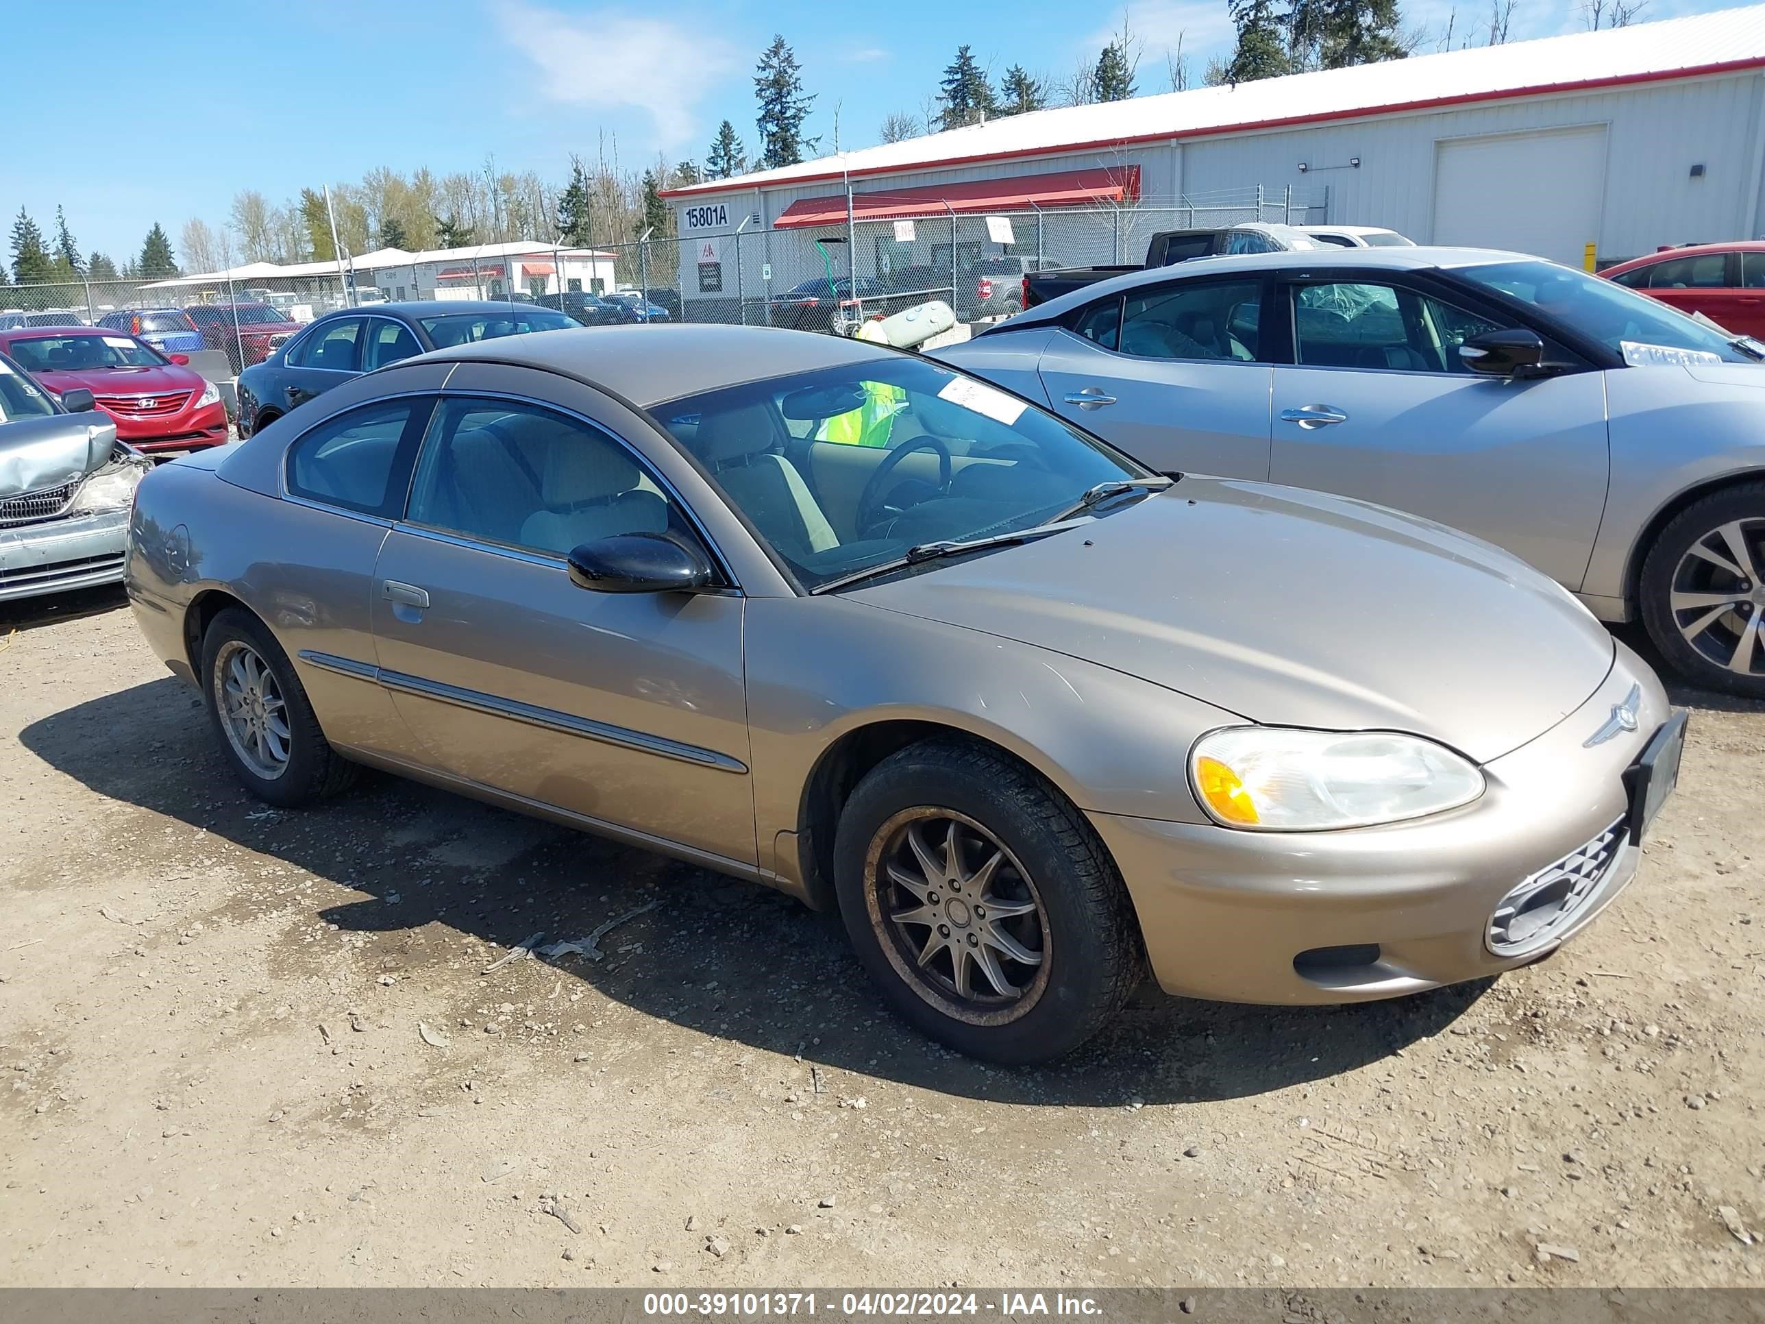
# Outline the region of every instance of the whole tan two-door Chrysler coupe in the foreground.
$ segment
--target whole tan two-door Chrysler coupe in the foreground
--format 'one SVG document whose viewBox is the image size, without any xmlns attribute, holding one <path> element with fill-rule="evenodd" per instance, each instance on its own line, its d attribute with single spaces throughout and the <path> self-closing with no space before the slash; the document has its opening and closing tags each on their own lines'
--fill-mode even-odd
<svg viewBox="0 0 1765 1324">
<path fill-rule="evenodd" d="M 369 764 L 837 907 L 886 1003 L 1003 1063 L 1147 967 L 1334 1003 L 1537 960 L 1684 733 L 1488 544 L 787 330 L 355 378 L 148 475 L 127 583 L 263 800 Z"/>
</svg>

